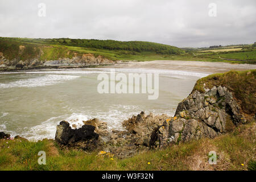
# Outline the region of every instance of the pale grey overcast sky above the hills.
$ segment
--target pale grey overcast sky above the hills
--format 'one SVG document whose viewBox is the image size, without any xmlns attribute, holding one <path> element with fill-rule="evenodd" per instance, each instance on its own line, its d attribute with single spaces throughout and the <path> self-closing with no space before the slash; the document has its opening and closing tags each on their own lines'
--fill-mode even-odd
<svg viewBox="0 0 256 182">
<path fill-rule="evenodd" d="M 217 16 L 209 16 L 210 3 Z M 0 36 L 246 44 L 256 42 L 255 9 L 255 0 L 0 0 Z"/>
</svg>

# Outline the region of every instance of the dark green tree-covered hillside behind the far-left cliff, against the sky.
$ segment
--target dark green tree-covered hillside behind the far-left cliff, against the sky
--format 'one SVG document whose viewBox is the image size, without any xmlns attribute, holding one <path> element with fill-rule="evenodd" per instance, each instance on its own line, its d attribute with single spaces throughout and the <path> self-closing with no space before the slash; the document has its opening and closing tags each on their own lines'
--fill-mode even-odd
<svg viewBox="0 0 256 182">
<path fill-rule="evenodd" d="M 159 55 L 177 55 L 183 53 L 181 49 L 164 44 L 151 42 L 120 42 L 115 40 L 94 40 L 94 39 L 27 39 L 27 38 L 0 38 L 1 42 L 11 42 L 12 44 L 24 43 L 31 45 L 48 45 L 58 48 L 69 48 L 73 51 L 82 53 L 97 53 L 116 55 L 140 55 L 140 54 L 159 54 Z"/>
</svg>

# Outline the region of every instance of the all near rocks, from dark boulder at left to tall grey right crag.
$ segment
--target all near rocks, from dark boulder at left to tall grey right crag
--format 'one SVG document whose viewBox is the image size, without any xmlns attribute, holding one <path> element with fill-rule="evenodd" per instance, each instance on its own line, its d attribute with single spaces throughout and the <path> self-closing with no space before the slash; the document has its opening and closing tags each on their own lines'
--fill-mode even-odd
<svg viewBox="0 0 256 182">
<path fill-rule="evenodd" d="M 56 141 L 84 150 L 101 149 L 118 158 L 126 158 L 151 148 L 164 148 L 202 137 L 214 138 L 245 122 L 240 105 L 227 88 L 214 86 L 201 93 L 193 91 L 179 103 L 174 117 L 146 115 L 143 111 L 123 121 L 125 131 L 107 129 L 98 119 L 84 121 L 80 129 L 71 129 L 66 121 L 57 126 Z M 105 138 L 105 140 L 102 140 Z"/>
</svg>

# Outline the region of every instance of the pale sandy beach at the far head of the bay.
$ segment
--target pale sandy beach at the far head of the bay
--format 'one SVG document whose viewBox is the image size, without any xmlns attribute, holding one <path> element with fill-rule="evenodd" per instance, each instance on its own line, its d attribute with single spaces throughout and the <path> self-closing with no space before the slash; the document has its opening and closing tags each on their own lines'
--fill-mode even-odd
<svg viewBox="0 0 256 182">
<path fill-rule="evenodd" d="M 114 65 L 108 65 L 105 68 L 172 69 L 202 73 L 223 73 L 230 70 L 244 71 L 247 69 L 256 69 L 256 65 L 203 61 L 155 60 L 119 62 Z"/>
</svg>

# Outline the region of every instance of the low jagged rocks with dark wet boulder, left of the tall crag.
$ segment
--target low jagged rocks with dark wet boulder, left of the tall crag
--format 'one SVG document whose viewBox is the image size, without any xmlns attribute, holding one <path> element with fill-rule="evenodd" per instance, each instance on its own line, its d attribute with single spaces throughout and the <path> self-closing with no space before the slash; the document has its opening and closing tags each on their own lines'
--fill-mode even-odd
<svg viewBox="0 0 256 182">
<path fill-rule="evenodd" d="M 146 115 L 143 111 L 123 122 L 126 131 L 109 131 L 105 122 L 96 118 L 83 121 L 84 125 L 72 129 L 67 121 L 57 125 L 55 140 L 57 143 L 76 147 L 83 150 L 103 150 L 110 152 L 118 158 L 126 158 L 137 154 L 139 151 L 148 150 L 151 134 L 155 127 L 159 128 L 162 147 L 168 143 L 167 115 Z M 160 127 L 159 127 L 160 126 Z M 156 143 L 157 141 L 154 141 Z"/>
</svg>

